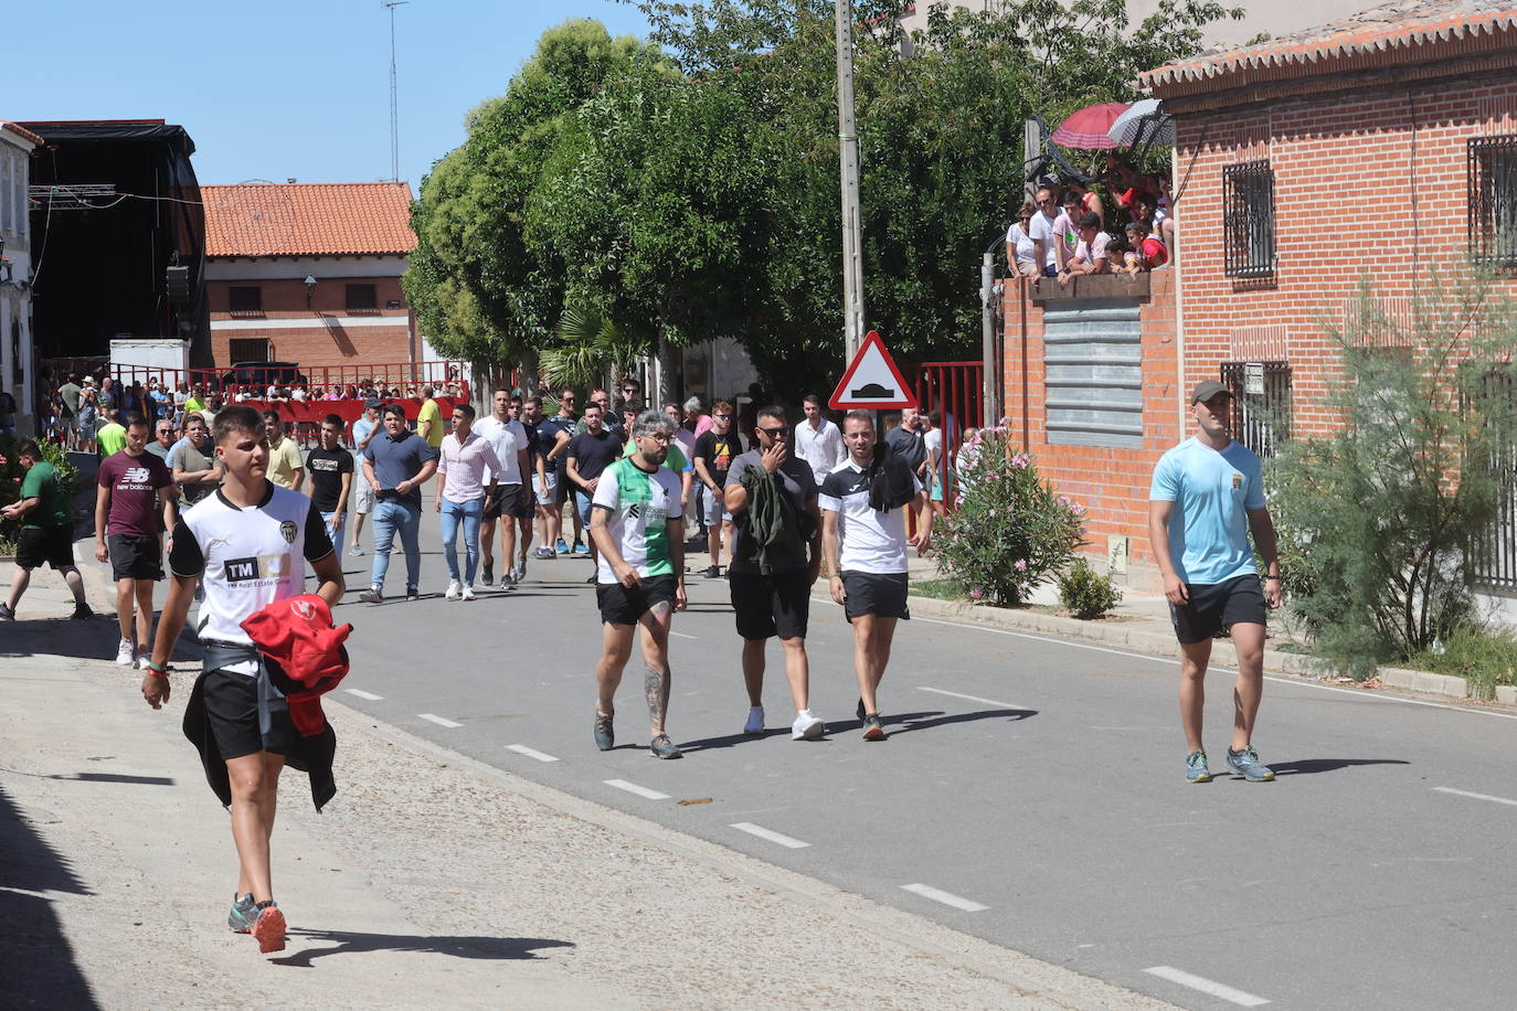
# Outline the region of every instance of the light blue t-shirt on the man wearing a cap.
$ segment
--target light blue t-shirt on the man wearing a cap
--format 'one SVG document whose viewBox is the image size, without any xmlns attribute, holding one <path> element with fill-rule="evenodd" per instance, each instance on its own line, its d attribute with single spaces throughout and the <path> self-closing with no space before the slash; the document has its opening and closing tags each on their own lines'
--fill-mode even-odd
<svg viewBox="0 0 1517 1011">
<path fill-rule="evenodd" d="M 1159 458 L 1148 500 L 1174 503 L 1170 561 L 1180 582 L 1209 587 L 1258 573 L 1247 511 L 1264 508 L 1264 474 L 1247 446 L 1217 452 L 1185 440 Z"/>
</svg>

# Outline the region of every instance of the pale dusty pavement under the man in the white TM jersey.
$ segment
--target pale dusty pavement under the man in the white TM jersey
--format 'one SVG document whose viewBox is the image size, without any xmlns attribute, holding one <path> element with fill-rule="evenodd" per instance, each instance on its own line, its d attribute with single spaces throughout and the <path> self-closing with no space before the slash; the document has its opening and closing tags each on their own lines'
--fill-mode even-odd
<svg viewBox="0 0 1517 1011">
<path fill-rule="evenodd" d="M 97 659 L 114 624 L 67 612 L 49 570 L 0 626 L 6 1006 L 1167 1006 L 337 703 L 337 799 L 317 815 L 284 779 L 291 935 L 259 956 L 225 928 L 235 856 L 179 731 L 191 673 L 155 712 Z"/>
</svg>

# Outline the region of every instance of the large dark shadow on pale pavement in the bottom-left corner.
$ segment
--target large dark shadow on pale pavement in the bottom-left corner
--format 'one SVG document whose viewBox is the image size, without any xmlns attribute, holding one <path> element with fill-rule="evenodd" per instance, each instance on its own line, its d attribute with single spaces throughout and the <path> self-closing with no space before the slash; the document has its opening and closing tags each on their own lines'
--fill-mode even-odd
<svg viewBox="0 0 1517 1011">
<path fill-rule="evenodd" d="M 0 853 L 0 923 L 5 923 L 0 931 L 5 996 L 0 1003 L 8 1008 L 97 1008 L 53 903 L 12 888 L 91 893 L 68 861 L 32 829 L 3 787 Z"/>
</svg>

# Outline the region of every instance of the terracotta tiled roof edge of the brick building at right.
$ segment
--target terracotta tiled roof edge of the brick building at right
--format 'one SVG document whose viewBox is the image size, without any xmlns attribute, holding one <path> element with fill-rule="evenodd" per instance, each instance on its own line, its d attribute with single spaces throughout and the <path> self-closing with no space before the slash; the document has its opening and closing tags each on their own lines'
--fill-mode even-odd
<svg viewBox="0 0 1517 1011">
<path fill-rule="evenodd" d="M 1497 35 L 1517 27 L 1512 0 L 1390 0 L 1353 17 L 1270 39 L 1248 49 L 1209 53 L 1165 64 L 1138 77 L 1138 86 L 1162 97 L 1167 86 L 1230 77 L 1247 71 L 1279 77 L 1308 64 L 1391 53 L 1426 44 Z M 1270 73 L 1273 71 L 1273 73 Z M 1218 80 L 1218 86 L 1227 82 Z"/>
</svg>

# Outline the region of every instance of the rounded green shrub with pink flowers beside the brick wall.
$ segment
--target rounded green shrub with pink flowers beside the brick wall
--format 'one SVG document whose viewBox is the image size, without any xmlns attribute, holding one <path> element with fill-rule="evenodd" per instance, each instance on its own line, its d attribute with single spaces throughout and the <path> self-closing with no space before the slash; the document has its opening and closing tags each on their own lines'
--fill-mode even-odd
<svg viewBox="0 0 1517 1011">
<path fill-rule="evenodd" d="M 1044 484 L 1006 432 L 1003 420 L 960 450 L 957 509 L 934 550 L 971 600 L 1018 605 L 1074 558 L 1085 506 Z"/>
</svg>

